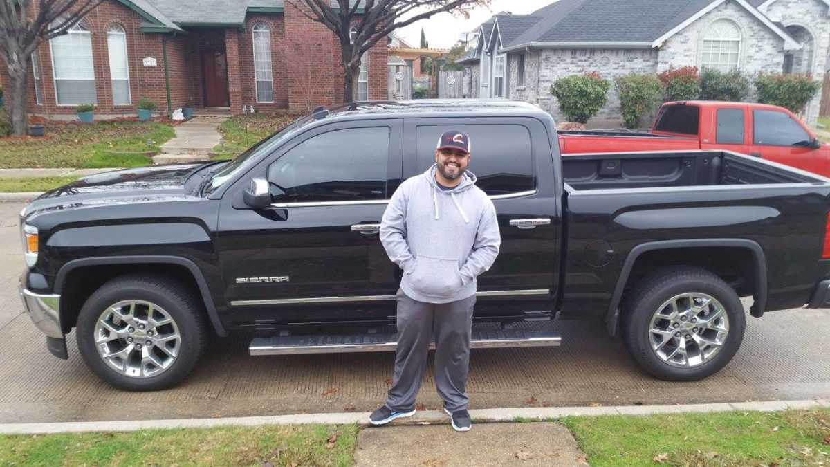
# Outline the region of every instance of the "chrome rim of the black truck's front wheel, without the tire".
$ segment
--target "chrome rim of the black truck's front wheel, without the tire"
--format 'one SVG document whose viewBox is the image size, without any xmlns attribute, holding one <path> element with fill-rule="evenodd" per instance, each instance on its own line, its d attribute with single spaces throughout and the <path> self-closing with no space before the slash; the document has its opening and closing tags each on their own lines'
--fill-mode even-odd
<svg viewBox="0 0 830 467">
<path fill-rule="evenodd" d="M 95 322 L 95 348 L 110 368 L 122 375 L 149 378 L 176 361 L 182 337 L 164 308 L 143 300 L 108 307 Z"/>
</svg>

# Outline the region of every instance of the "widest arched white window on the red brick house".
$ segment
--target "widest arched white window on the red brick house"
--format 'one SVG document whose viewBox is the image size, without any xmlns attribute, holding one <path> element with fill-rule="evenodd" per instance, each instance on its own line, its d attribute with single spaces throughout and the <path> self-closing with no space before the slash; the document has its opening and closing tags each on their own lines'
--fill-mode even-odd
<svg viewBox="0 0 830 467">
<path fill-rule="evenodd" d="M 56 22 L 66 20 L 58 19 Z M 53 22 L 51 27 L 58 24 Z M 90 28 L 81 19 L 63 36 L 49 41 L 52 56 L 52 75 L 59 106 L 95 104 L 95 71 L 92 66 L 92 39 Z"/>
</svg>

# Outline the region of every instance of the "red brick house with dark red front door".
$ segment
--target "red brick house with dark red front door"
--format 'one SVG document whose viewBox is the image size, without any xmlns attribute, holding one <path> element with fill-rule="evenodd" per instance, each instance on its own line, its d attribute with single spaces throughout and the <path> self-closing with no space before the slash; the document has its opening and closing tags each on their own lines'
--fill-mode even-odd
<svg viewBox="0 0 830 467">
<path fill-rule="evenodd" d="M 386 49 L 364 55 L 356 100 L 387 97 Z M 134 116 L 143 96 L 161 114 L 304 110 L 341 102 L 344 86 L 337 38 L 283 0 L 104 0 L 38 47 L 30 76 L 29 111 L 50 118 L 82 103 Z"/>
</svg>

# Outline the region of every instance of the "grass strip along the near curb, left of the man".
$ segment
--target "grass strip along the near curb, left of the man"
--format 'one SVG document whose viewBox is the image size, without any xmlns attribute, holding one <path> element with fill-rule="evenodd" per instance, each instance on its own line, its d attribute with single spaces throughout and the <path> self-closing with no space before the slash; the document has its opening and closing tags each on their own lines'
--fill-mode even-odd
<svg viewBox="0 0 830 467">
<path fill-rule="evenodd" d="M 357 425 L 0 436 L 0 465 L 353 465 Z"/>
</svg>

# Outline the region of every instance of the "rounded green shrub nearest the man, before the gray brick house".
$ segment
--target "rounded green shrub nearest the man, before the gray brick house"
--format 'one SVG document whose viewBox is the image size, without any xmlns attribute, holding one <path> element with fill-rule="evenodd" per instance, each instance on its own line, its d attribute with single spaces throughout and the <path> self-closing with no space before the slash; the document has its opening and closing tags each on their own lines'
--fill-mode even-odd
<svg viewBox="0 0 830 467">
<path fill-rule="evenodd" d="M 550 93 L 559 99 L 559 110 L 568 121 L 588 123 L 608 99 L 611 82 L 598 73 L 565 76 L 550 86 Z"/>
</svg>

